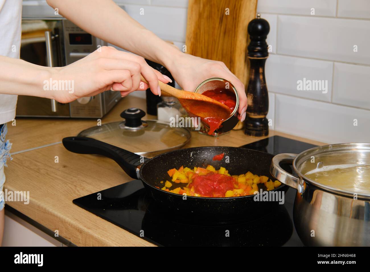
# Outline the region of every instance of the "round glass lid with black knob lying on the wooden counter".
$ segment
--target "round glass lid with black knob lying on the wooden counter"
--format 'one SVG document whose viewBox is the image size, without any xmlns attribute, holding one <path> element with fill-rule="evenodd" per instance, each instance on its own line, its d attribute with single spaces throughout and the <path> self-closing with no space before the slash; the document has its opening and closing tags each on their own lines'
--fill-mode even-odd
<svg viewBox="0 0 370 272">
<path fill-rule="evenodd" d="M 186 128 L 170 127 L 164 121 L 141 120 L 144 116 L 143 110 L 129 108 L 121 113 L 124 121 L 97 125 L 77 136 L 94 138 L 146 157 L 178 149 L 191 138 Z"/>
</svg>

